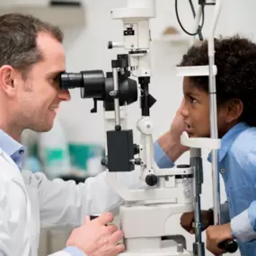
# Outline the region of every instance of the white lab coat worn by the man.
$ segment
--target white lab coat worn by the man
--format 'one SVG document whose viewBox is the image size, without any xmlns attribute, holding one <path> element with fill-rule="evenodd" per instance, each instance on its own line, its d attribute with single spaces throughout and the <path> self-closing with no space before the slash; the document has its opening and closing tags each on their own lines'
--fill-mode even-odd
<svg viewBox="0 0 256 256">
<path fill-rule="evenodd" d="M 85 215 L 119 206 L 122 199 L 104 177 L 102 172 L 78 185 L 75 181 L 49 181 L 42 173 L 20 172 L 0 148 L 0 252 L 4 256 L 36 256 L 40 227 L 75 227 L 83 223 Z M 119 178 L 129 189 L 142 185 L 136 172 L 119 173 Z"/>
</svg>

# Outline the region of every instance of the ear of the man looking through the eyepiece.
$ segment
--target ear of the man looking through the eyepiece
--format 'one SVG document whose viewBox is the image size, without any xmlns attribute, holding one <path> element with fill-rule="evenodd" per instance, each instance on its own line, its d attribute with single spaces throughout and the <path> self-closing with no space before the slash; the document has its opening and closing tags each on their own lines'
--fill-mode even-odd
<svg viewBox="0 0 256 256">
<path fill-rule="evenodd" d="M 9 97 L 13 97 L 17 91 L 17 71 L 10 65 L 0 67 L 0 88 Z"/>
</svg>

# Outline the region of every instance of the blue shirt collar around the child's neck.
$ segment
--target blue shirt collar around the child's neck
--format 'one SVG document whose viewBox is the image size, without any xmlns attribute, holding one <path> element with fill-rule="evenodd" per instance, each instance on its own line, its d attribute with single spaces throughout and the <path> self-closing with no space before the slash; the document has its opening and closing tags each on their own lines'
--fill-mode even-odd
<svg viewBox="0 0 256 256">
<path fill-rule="evenodd" d="M 218 150 L 218 162 L 221 162 L 229 148 L 232 146 L 234 139 L 238 137 L 245 129 L 250 128 L 246 123 L 240 122 L 233 128 L 229 129 L 221 139 L 221 148 Z M 208 155 L 208 161 L 211 162 L 211 153 Z"/>
</svg>

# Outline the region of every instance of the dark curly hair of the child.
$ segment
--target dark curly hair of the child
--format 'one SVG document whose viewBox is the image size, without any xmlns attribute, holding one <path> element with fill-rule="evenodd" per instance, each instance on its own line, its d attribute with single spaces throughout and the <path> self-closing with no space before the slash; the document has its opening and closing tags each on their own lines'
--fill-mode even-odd
<svg viewBox="0 0 256 256">
<path fill-rule="evenodd" d="M 241 121 L 256 127 L 256 44 L 234 36 L 215 40 L 217 105 L 231 99 L 243 102 Z M 208 65 L 207 41 L 192 46 L 179 66 Z M 208 92 L 208 76 L 191 76 L 190 80 Z"/>
</svg>

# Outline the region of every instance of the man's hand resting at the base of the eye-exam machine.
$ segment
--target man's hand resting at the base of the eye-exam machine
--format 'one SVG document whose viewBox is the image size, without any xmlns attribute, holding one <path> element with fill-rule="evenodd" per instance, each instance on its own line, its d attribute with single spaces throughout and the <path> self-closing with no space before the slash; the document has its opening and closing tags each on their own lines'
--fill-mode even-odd
<svg viewBox="0 0 256 256">
<path fill-rule="evenodd" d="M 116 225 L 108 225 L 112 220 L 110 213 L 103 213 L 93 220 L 86 216 L 84 225 L 73 230 L 66 246 L 75 246 L 87 256 L 115 256 L 124 252 L 124 245 L 117 244 L 123 238 L 123 232 Z"/>
</svg>

